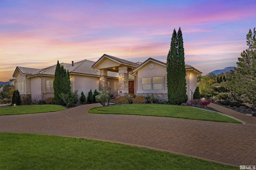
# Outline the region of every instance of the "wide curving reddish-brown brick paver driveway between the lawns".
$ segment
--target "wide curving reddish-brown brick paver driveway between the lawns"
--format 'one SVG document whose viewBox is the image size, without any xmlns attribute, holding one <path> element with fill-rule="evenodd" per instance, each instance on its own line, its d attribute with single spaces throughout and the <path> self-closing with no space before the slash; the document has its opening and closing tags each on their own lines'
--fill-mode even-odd
<svg viewBox="0 0 256 170">
<path fill-rule="evenodd" d="M 89 114 L 91 104 L 64 111 L 0 116 L 0 132 L 97 139 L 232 165 L 256 165 L 256 126 L 168 117 Z"/>
</svg>

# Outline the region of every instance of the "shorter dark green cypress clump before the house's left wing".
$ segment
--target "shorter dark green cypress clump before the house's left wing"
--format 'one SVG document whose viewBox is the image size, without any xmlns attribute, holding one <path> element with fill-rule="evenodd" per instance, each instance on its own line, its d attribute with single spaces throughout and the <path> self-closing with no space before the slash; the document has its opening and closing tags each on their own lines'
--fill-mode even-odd
<svg viewBox="0 0 256 170">
<path fill-rule="evenodd" d="M 64 69 L 63 65 L 60 66 L 59 61 L 57 62 L 54 76 L 54 102 L 58 105 L 64 105 L 64 101 L 60 94 L 68 94 L 71 92 L 71 82 L 69 72 Z"/>
</svg>

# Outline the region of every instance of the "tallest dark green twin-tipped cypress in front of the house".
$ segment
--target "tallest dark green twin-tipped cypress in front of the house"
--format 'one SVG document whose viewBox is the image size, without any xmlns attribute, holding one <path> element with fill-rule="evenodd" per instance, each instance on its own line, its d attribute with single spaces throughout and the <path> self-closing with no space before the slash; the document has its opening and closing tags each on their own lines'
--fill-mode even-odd
<svg viewBox="0 0 256 170">
<path fill-rule="evenodd" d="M 166 66 L 168 102 L 174 105 L 186 103 L 188 100 L 186 95 L 186 69 L 183 38 L 180 28 L 178 34 L 175 29 L 172 33 Z"/>
</svg>

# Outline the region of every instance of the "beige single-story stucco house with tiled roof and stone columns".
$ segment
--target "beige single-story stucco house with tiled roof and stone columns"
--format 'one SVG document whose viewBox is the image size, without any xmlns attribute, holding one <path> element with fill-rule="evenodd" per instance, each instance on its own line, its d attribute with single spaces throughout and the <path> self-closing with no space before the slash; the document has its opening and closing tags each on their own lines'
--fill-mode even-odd
<svg viewBox="0 0 256 170">
<path fill-rule="evenodd" d="M 149 58 L 143 63 L 133 63 L 104 54 L 98 61 L 83 60 L 74 63 L 60 63 L 70 72 L 71 89 L 78 90 L 79 98 L 90 90 L 108 90 L 114 96 L 135 94 L 167 100 L 166 63 Z M 21 95 L 31 95 L 32 100 L 54 97 L 53 81 L 56 65 L 43 68 L 17 66 L 10 81 Z M 188 99 L 196 89 L 196 68 L 185 65 Z"/>
</svg>

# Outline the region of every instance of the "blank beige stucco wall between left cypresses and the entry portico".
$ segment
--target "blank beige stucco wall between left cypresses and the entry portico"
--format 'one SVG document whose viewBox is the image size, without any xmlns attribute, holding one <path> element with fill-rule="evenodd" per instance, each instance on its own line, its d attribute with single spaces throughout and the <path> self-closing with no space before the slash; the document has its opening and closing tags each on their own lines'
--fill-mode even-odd
<svg viewBox="0 0 256 170">
<path fill-rule="evenodd" d="M 84 92 L 86 96 L 86 101 L 88 98 L 88 93 L 92 89 L 92 94 L 94 94 L 94 90 L 99 91 L 100 88 L 100 79 L 99 77 L 94 76 L 81 76 L 81 75 L 70 75 L 71 79 L 71 89 L 78 90 L 78 100 L 80 101 L 81 93 Z"/>
</svg>

